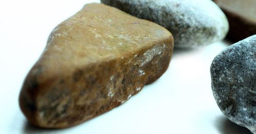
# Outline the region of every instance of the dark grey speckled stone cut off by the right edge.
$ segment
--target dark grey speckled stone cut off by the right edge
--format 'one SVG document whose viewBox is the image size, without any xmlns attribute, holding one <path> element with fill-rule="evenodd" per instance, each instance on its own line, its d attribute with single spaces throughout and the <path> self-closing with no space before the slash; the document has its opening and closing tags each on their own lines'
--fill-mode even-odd
<svg viewBox="0 0 256 134">
<path fill-rule="evenodd" d="M 256 35 L 224 49 L 212 61 L 210 73 L 222 113 L 256 133 Z"/>
</svg>

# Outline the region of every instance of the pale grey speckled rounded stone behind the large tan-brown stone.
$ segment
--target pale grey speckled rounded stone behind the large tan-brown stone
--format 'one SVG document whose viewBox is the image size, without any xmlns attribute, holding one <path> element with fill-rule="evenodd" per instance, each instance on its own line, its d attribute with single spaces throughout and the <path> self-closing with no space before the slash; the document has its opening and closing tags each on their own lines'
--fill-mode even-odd
<svg viewBox="0 0 256 134">
<path fill-rule="evenodd" d="M 225 38 L 225 14 L 210 0 L 101 0 L 142 19 L 162 25 L 174 36 L 175 47 L 197 47 Z"/>
</svg>

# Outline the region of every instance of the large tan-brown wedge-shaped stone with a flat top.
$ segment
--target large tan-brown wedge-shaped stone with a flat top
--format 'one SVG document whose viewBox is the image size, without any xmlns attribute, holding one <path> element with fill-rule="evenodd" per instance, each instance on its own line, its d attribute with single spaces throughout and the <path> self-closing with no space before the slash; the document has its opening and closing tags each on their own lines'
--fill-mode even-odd
<svg viewBox="0 0 256 134">
<path fill-rule="evenodd" d="M 19 105 L 43 128 L 65 128 L 114 109 L 167 69 L 173 36 L 103 4 L 61 22 L 27 75 Z"/>
</svg>

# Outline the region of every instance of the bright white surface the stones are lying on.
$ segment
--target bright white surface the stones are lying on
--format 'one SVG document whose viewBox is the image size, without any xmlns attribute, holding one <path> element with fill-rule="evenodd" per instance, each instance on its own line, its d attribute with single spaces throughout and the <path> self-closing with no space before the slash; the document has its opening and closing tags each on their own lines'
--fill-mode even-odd
<svg viewBox="0 0 256 134">
<path fill-rule="evenodd" d="M 175 49 L 166 73 L 118 108 L 67 129 L 40 129 L 18 106 L 24 78 L 52 29 L 85 3 L 0 2 L 0 133 L 250 133 L 228 121 L 211 93 L 209 68 L 229 43 Z"/>
</svg>

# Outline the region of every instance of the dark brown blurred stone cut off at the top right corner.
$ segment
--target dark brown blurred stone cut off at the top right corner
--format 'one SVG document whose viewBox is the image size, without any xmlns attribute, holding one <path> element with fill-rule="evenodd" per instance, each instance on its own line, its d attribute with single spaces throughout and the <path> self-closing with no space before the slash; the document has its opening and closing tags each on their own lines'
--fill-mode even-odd
<svg viewBox="0 0 256 134">
<path fill-rule="evenodd" d="M 255 0 L 215 0 L 226 14 L 230 30 L 227 38 L 239 41 L 256 34 Z"/>
</svg>

